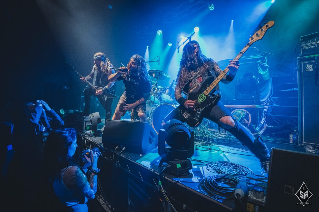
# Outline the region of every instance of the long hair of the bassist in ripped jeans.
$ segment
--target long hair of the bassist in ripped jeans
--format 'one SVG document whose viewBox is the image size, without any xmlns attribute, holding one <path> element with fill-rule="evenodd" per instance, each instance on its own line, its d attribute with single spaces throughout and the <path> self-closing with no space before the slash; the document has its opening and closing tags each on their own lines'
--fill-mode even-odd
<svg viewBox="0 0 319 212">
<path fill-rule="evenodd" d="M 196 57 L 194 54 L 195 47 L 194 45 L 197 45 L 198 48 L 198 56 Z M 180 77 L 180 79 L 177 80 L 177 82 L 183 82 L 185 78 L 188 76 L 189 70 L 195 70 L 197 67 L 201 66 L 207 66 L 205 62 L 208 59 L 202 52 L 202 49 L 200 48 L 198 42 L 196 40 L 191 40 L 188 43 L 185 44 L 183 48 L 183 54 L 182 59 L 180 63 L 180 68 L 177 74 L 177 79 Z"/>
</svg>

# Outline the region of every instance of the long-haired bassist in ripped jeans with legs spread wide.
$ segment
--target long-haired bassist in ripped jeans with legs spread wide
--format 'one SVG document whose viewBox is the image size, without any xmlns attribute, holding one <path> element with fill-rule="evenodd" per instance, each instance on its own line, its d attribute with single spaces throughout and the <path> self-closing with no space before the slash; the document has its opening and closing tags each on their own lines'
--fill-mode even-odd
<svg viewBox="0 0 319 212">
<path fill-rule="evenodd" d="M 231 60 L 228 65 L 229 72 L 220 81 L 225 84 L 230 83 L 238 67 L 238 60 Z M 262 174 L 268 173 L 270 152 L 263 139 L 260 136 L 255 139 L 249 129 L 234 120 L 230 111 L 219 101 L 218 84 L 208 96 L 200 94 L 221 72 L 217 62 L 203 55 L 196 40 L 189 41 L 183 48 L 175 87 L 175 99 L 180 106 L 167 115 L 162 125 L 164 126 L 169 120 L 177 119 L 187 122 L 191 127 L 197 127 L 202 118 L 207 118 L 217 123 L 219 128 L 234 135 L 260 160 Z M 182 92 L 187 95 L 187 99 L 182 97 Z M 200 95 L 196 96 L 197 94 Z M 194 96 L 196 98 L 192 98 Z M 193 124 L 190 124 L 192 122 Z"/>
</svg>

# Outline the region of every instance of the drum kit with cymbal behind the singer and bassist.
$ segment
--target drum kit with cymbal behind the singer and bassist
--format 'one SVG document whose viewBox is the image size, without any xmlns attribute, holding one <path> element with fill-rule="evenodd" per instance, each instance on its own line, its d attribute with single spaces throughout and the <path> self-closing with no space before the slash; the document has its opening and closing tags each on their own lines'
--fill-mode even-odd
<svg viewBox="0 0 319 212">
<path fill-rule="evenodd" d="M 149 70 L 151 76 L 152 89 L 149 100 L 146 102 L 146 115 L 150 124 L 158 134 L 164 118 L 178 105 L 174 97 L 174 80 L 168 87 L 158 85 L 158 80 L 167 81 L 170 76 L 160 70 Z"/>
</svg>

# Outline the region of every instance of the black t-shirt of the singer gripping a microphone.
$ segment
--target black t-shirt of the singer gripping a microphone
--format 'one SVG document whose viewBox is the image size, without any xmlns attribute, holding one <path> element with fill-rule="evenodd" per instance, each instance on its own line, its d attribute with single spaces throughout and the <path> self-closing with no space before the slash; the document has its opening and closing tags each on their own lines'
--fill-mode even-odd
<svg viewBox="0 0 319 212">
<path fill-rule="evenodd" d="M 123 80 L 127 103 L 134 103 L 143 97 L 143 93 L 151 92 L 151 83 L 146 80 L 138 80 L 138 76 L 126 74 L 117 78 Z"/>
</svg>

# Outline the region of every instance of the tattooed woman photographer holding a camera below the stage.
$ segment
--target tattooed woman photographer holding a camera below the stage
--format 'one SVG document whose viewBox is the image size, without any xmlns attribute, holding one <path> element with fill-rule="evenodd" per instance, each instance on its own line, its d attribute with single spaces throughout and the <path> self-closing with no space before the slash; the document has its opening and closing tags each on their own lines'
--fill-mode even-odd
<svg viewBox="0 0 319 212">
<path fill-rule="evenodd" d="M 86 159 L 84 170 L 74 159 L 77 138 L 74 128 L 53 131 L 45 143 L 44 162 L 50 187 L 69 211 L 88 211 L 88 199 L 94 199 L 97 191 L 97 167 L 99 150 L 82 152 Z M 87 156 L 89 152 L 89 157 Z"/>
</svg>

